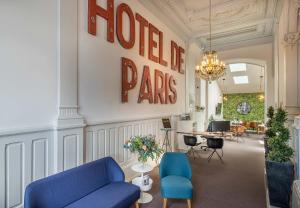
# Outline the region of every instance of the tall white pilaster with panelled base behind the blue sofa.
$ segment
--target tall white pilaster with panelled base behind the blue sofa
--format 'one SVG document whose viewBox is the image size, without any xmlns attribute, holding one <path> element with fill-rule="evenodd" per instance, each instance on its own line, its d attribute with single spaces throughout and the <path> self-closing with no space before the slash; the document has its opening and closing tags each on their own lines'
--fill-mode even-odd
<svg viewBox="0 0 300 208">
<path fill-rule="evenodd" d="M 54 133 L 54 170 L 83 163 L 84 118 L 78 113 L 78 1 L 59 1 L 58 118 Z"/>
</svg>

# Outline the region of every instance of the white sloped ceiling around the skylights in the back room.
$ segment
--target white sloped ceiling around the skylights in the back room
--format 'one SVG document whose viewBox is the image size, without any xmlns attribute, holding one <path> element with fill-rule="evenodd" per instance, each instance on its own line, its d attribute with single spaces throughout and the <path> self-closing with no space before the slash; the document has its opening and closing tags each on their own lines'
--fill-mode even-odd
<svg viewBox="0 0 300 208">
<path fill-rule="evenodd" d="M 217 82 L 221 91 L 225 94 L 230 93 L 255 93 L 264 91 L 264 78 L 262 78 L 262 87 L 260 90 L 260 76 L 264 75 L 264 69 L 254 64 L 246 64 L 246 71 L 231 72 L 229 66 L 226 67 L 226 75 Z M 248 76 L 248 84 L 234 84 L 234 76 Z"/>
</svg>

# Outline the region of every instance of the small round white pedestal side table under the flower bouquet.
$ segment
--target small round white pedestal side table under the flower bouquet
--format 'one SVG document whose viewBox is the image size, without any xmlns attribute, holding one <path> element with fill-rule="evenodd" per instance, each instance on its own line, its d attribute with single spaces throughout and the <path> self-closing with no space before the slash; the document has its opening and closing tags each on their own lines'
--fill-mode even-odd
<svg viewBox="0 0 300 208">
<path fill-rule="evenodd" d="M 149 184 L 144 184 L 144 173 L 150 172 L 153 170 L 153 167 L 148 164 L 138 163 L 131 167 L 131 169 L 135 172 L 141 174 L 140 177 L 136 177 L 132 180 L 132 184 L 137 185 L 141 189 L 141 197 L 138 200 L 138 203 L 144 204 L 152 201 L 153 197 L 149 193 L 145 193 L 145 191 L 149 191 L 152 188 L 153 180 L 149 177 Z"/>
</svg>

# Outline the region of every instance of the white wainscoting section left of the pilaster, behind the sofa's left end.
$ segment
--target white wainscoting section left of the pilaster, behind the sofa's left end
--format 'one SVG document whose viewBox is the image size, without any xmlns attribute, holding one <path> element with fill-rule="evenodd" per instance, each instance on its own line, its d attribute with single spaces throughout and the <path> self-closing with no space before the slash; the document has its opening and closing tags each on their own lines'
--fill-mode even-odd
<svg viewBox="0 0 300 208">
<path fill-rule="evenodd" d="M 0 136 L 0 207 L 22 207 L 31 181 L 53 173 L 53 132 Z"/>
</svg>

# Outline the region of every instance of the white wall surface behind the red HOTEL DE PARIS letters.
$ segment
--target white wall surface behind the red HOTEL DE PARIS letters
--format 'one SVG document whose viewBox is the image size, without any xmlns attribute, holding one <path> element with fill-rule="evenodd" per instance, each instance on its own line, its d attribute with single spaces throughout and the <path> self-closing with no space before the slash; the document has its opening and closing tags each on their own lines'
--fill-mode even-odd
<svg viewBox="0 0 300 208">
<path fill-rule="evenodd" d="M 106 1 L 99 1 L 106 2 Z M 145 56 L 139 55 L 139 24 L 136 22 L 135 46 L 128 50 L 122 48 L 117 37 L 112 44 L 106 40 L 106 21 L 97 19 L 97 36 L 87 32 L 87 3 L 79 4 L 79 105 L 80 113 L 88 123 L 111 120 L 135 119 L 169 114 L 180 114 L 185 110 L 185 75 L 170 69 L 170 42 L 174 40 L 181 47 L 184 41 L 178 38 L 166 25 L 162 24 L 154 15 L 134 0 L 115 1 L 115 8 L 121 3 L 128 3 L 132 11 L 142 14 L 164 33 L 164 59 L 168 67 L 156 64 L 148 59 L 148 35 L 145 36 Z M 127 20 L 127 19 L 126 19 Z M 127 25 L 127 22 L 125 22 Z M 145 33 L 148 34 L 146 28 Z M 134 61 L 138 70 L 138 83 L 129 91 L 129 102 L 121 103 L 121 57 Z M 142 70 L 144 65 L 150 67 L 152 87 L 154 87 L 154 69 L 174 75 L 177 80 L 176 104 L 149 104 L 144 101 L 137 103 Z"/>
</svg>

